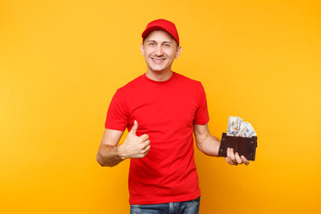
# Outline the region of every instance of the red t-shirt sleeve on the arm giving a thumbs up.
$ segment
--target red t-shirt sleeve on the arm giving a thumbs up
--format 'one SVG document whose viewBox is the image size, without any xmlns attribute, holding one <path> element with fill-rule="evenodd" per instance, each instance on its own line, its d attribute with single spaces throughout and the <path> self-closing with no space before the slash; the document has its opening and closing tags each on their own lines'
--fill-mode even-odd
<svg viewBox="0 0 321 214">
<path fill-rule="evenodd" d="M 128 111 L 125 96 L 118 89 L 111 99 L 111 104 L 107 111 L 105 128 L 124 131 L 128 125 Z"/>
</svg>

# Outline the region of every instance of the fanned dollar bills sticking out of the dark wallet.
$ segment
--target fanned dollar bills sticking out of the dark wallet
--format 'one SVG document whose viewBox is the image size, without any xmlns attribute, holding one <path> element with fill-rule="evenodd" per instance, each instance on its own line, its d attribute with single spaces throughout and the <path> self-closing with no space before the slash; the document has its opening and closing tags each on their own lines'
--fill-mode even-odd
<svg viewBox="0 0 321 214">
<path fill-rule="evenodd" d="M 256 132 L 254 128 L 252 128 L 251 123 L 244 122 L 240 117 L 229 116 L 226 136 L 243 136 L 250 138 L 256 136 Z"/>
</svg>

